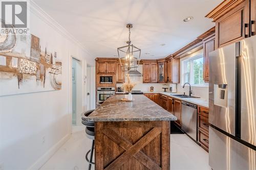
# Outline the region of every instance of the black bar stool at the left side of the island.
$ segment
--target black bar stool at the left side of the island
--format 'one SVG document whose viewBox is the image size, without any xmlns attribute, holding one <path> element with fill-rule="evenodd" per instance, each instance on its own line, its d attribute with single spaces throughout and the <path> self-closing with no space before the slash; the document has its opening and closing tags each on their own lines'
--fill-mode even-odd
<svg viewBox="0 0 256 170">
<path fill-rule="evenodd" d="M 83 116 L 89 116 L 94 110 L 89 110 L 82 113 L 82 124 L 86 126 L 86 136 L 89 139 L 92 139 L 92 148 L 86 153 L 86 160 L 89 163 L 88 169 L 91 170 L 93 162 L 93 151 L 94 151 L 94 122 L 88 122 L 83 118 Z M 88 155 L 90 154 L 90 160 L 88 159 Z"/>
</svg>

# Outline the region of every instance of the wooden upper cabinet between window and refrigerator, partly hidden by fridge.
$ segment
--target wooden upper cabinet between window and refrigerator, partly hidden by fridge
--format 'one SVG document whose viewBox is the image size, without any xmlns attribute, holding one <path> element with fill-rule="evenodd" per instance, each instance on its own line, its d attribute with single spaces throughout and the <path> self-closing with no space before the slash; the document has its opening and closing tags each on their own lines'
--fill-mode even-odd
<svg viewBox="0 0 256 170">
<path fill-rule="evenodd" d="M 203 41 L 204 48 L 204 81 L 209 81 L 209 53 L 215 50 L 215 35 Z"/>
</svg>

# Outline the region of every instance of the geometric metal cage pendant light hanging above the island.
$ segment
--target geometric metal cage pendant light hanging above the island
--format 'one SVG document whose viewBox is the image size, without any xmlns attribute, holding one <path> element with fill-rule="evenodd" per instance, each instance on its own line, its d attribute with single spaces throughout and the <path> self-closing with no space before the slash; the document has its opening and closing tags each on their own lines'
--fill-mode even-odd
<svg viewBox="0 0 256 170">
<path fill-rule="evenodd" d="M 126 41 L 128 45 L 117 48 L 118 58 L 123 71 L 136 70 L 140 63 L 141 50 L 131 44 L 131 28 L 132 24 L 127 24 L 126 28 L 129 29 L 129 41 Z"/>
</svg>

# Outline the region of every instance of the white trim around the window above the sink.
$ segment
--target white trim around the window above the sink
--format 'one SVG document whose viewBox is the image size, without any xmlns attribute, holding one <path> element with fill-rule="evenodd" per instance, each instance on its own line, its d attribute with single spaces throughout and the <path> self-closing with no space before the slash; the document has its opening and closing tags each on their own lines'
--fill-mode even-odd
<svg viewBox="0 0 256 170">
<path fill-rule="evenodd" d="M 180 74 L 180 80 L 181 80 L 180 86 L 183 86 L 183 84 L 186 83 L 186 82 L 184 82 L 184 77 L 183 77 L 183 72 L 184 72 L 184 64 L 183 63 L 184 63 L 184 61 L 191 60 L 191 59 L 194 59 L 194 58 L 199 58 L 199 56 L 202 56 L 202 54 L 203 54 L 203 50 L 199 50 L 199 51 L 197 51 L 197 52 L 195 52 L 193 54 L 190 54 L 190 55 L 180 59 L 180 68 L 181 68 L 180 69 L 180 71 L 181 71 L 181 74 Z M 191 65 L 190 65 L 190 67 L 191 67 Z M 191 79 L 192 79 L 192 77 L 191 77 Z M 208 83 L 199 84 L 199 85 L 191 84 L 191 87 L 209 87 L 209 84 Z"/>
</svg>

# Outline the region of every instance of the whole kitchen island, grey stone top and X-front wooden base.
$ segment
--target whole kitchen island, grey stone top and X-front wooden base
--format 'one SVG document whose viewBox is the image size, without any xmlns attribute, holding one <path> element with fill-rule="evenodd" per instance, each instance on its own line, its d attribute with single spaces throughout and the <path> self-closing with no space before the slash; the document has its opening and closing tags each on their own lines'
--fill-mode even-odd
<svg viewBox="0 0 256 170">
<path fill-rule="evenodd" d="M 177 118 L 143 94 L 122 98 L 113 95 L 84 117 L 95 122 L 95 169 L 169 169 L 170 121 Z"/>
</svg>

